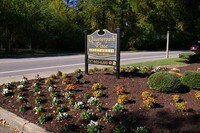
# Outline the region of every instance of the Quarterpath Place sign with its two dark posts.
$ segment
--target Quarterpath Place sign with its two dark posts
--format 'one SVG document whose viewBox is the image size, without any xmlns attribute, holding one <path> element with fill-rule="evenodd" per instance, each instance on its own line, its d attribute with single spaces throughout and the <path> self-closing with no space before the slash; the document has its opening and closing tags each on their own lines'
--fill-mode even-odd
<svg viewBox="0 0 200 133">
<path fill-rule="evenodd" d="M 117 34 L 104 29 L 87 35 L 85 31 L 85 73 L 88 74 L 88 64 L 110 65 L 116 67 L 117 78 L 120 74 L 120 28 Z M 92 58 L 90 58 L 92 57 Z M 112 57 L 115 57 L 113 60 Z M 112 58 L 105 60 L 105 58 Z"/>
</svg>

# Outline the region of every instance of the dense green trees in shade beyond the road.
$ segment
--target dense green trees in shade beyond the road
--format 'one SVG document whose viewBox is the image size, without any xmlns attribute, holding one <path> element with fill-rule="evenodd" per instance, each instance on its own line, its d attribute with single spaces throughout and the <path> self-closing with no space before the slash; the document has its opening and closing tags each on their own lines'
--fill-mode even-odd
<svg viewBox="0 0 200 133">
<path fill-rule="evenodd" d="M 0 0 L 0 48 L 83 51 L 84 30 L 122 31 L 122 50 L 186 48 L 200 39 L 197 0 Z"/>
</svg>

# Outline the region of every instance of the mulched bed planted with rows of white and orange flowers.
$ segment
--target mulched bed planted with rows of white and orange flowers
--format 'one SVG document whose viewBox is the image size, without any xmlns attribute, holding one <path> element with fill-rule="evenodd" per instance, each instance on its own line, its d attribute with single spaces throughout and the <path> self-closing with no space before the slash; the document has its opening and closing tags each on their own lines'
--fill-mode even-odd
<svg viewBox="0 0 200 133">
<path fill-rule="evenodd" d="M 180 70 L 198 67 L 194 64 Z M 80 70 L 63 75 L 59 72 L 48 79 L 37 75 L 33 80 L 23 78 L 2 85 L 0 104 L 55 133 L 200 131 L 200 102 L 195 90 L 179 94 L 187 102 L 188 111 L 183 112 L 174 106 L 173 94 L 143 93 L 149 90 L 146 77 L 122 76 L 118 80 L 112 72 L 80 75 Z M 143 101 L 152 96 L 156 104 L 148 108 Z"/>
</svg>

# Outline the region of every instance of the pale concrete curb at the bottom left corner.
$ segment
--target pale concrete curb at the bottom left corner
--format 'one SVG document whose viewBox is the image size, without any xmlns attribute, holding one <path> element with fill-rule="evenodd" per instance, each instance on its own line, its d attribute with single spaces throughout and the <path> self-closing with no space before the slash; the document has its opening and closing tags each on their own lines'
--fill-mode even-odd
<svg viewBox="0 0 200 133">
<path fill-rule="evenodd" d="M 5 119 L 12 128 L 16 128 L 20 133 L 50 133 L 45 129 L 33 124 L 25 119 L 0 107 L 0 118 Z"/>
</svg>

